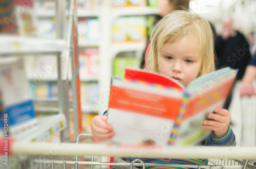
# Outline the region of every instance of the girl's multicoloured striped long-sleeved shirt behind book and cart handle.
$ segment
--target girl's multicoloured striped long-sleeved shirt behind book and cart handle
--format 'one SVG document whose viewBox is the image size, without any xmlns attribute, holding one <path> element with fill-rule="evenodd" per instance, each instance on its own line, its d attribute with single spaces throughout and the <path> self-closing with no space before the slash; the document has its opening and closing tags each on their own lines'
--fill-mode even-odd
<svg viewBox="0 0 256 169">
<path fill-rule="evenodd" d="M 103 116 L 108 116 L 108 111 L 105 111 Z M 236 137 L 230 126 L 222 136 L 214 135 L 211 131 L 209 136 L 196 146 L 236 146 Z M 127 162 L 132 162 L 137 158 L 125 158 Z M 140 158 L 144 163 L 157 163 L 157 164 L 190 164 L 190 165 L 207 165 L 207 159 L 194 159 L 194 158 Z M 168 168 L 168 167 L 146 167 L 146 168 Z"/>
</svg>

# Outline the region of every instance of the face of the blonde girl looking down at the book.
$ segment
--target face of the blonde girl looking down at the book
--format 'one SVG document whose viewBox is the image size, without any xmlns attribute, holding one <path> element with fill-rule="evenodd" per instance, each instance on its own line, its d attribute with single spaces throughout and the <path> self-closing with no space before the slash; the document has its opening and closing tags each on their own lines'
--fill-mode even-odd
<svg viewBox="0 0 256 169">
<path fill-rule="evenodd" d="M 170 78 L 180 81 L 185 87 L 196 79 L 202 66 L 198 41 L 191 36 L 165 43 L 158 54 L 158 70 Z"/>
</svg>

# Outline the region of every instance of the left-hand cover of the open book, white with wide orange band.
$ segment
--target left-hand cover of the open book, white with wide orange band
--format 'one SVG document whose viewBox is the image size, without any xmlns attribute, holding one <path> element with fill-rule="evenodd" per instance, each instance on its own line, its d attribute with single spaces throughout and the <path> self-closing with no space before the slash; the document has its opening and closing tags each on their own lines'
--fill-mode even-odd
<svg viewBox="0 0 256 169">
<path fill-rule="evenodd" d="M 113 143 L 166 145 L 179 114 L 183 92 L 113 79 L 108 124 Z"/>
</svg>

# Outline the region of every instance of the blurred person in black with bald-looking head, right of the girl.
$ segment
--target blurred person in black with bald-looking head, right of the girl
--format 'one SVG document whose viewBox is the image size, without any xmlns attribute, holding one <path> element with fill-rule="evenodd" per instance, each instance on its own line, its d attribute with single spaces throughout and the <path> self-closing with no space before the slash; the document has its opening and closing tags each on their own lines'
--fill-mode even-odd
<svg viewBox="0 0 256 169">
<path fill-rule="evenodd" d="M 217 55 L 217 69 L 223 67 L 239 69 L 236 81 L 241 80 L 245 68 L 251 59 L 251 54 L 249 43 L 244 35 L 233 29 L 233 20 L 231 17 L 226 17 L 223 20 L 223 31 L 222 34 L 216 38 L 215 52 Z M 226 100 L 224 108 L 228 109 L 231 98 L 232 90 Z"/>
</svg>

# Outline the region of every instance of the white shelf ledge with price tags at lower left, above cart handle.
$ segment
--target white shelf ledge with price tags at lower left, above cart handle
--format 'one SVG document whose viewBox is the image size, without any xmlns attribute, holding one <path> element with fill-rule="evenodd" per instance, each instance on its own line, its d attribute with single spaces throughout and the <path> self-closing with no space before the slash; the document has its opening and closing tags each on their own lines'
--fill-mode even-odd
<svg viewBox="0 0 256 169">
<path fill-rule="evenodd" d="M 15 139 L 21 142 L 46 142 L 65 127 L 67 121 L 63 114 L 38 118 L 38 127 L 15 136 Z"/>
</svg>

